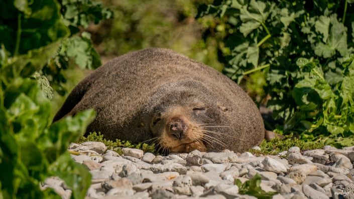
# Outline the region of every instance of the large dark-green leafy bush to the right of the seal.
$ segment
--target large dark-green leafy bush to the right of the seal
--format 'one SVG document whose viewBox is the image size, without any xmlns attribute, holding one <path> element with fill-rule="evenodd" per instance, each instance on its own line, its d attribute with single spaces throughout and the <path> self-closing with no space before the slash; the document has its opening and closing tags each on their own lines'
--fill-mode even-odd
<svg viewBox="0 0 354 199">
<path fill-rule="evenodd" d="M 197 18 L 218 23 L 224 73 L 241 82 L 263 70 L 265 94 L 282 131 L 327 144 L 354 140 L 353 1 L 215 0 Z M 264 97 L 264 96 L 263 96 Z"/>
</svg>

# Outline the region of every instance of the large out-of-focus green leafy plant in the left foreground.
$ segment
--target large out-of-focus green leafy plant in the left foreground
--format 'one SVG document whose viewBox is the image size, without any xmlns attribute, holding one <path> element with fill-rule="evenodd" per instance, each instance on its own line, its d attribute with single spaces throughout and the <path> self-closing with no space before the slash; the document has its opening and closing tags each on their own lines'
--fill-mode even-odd
<svg viewBox="0 0 354 199">
<path fill-rule="evenodd" d="M 40 182 L 53 175 L 72 189 L 73 198 L 83 198 L 90 185 L 87 169 L 71 160 L 66 151 L 83 134 L 94 112 L 51 124 L 48 98 L 52 89 L 36 73 L 61 52 L 68 54 L 75 48 L 82 52 L 80 45 L 65 46 L 65 41 L 76 37 L 68 38 L 67 26 L 72 30 L 55 0 L 6 1 L 0 7 L 0 198 L 60 198 L 52 189 L 40 190 Z"/>
</svg>

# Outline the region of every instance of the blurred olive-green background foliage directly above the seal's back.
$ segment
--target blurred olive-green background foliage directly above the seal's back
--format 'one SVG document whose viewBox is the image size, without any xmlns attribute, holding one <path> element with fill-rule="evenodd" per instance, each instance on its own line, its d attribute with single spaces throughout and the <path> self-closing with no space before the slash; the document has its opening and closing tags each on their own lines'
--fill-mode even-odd
<svg viewBox="0 0 354 199">
<path fill-rule="evenodd" d="M 205 2 L 210 0 L 102 0 L 114 12 L 114 20 L 91 26 L 89 32 L 107 58 L 143 48 L 169 48 L 221 70 L 215 41 L 202 40 L 208 20 L 199 24 L 194 19 L 197 6 Z"/>
</svg>

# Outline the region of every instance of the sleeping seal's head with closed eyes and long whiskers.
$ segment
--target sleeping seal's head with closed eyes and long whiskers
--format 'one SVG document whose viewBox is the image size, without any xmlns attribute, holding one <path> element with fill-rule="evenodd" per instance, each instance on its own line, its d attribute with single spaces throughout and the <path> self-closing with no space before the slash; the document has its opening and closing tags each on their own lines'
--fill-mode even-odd
<svg viewBox="0 0 354 199">
<path fill-rule="evenodd" d="M 169 152 L 220 151 L 229 148 L 224 143 L 225 137 L 242 140 L 234 136 L 236 132 L 229 126 L 232 125 L 232 109 L 220 104 L 224 99 L 215 100 L 213 93 L 192 82 L 175 85 L 171 92 L 164 89 L 163 95 L 154 95 L 159 96 L 156 103 L 149 105 L 153 107 L 150 129 L 160 149 Z"/>
</svg>

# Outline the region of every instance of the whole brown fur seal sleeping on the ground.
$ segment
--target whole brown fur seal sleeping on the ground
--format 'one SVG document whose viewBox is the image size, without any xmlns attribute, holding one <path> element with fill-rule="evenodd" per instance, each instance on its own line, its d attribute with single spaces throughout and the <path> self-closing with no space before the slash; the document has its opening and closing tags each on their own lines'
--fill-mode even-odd
<svg viewBox="0 0 354 199">
<path fill-rule="evenodd" d="M 218 71 L 168 49 L 145 49 L 96 69 L 70 93 L 54 121 L 94 108 L 87 132 L 150 140 L 169 152 L 245 151 L 264 138 L 252 99 Z"/>
</svg>

